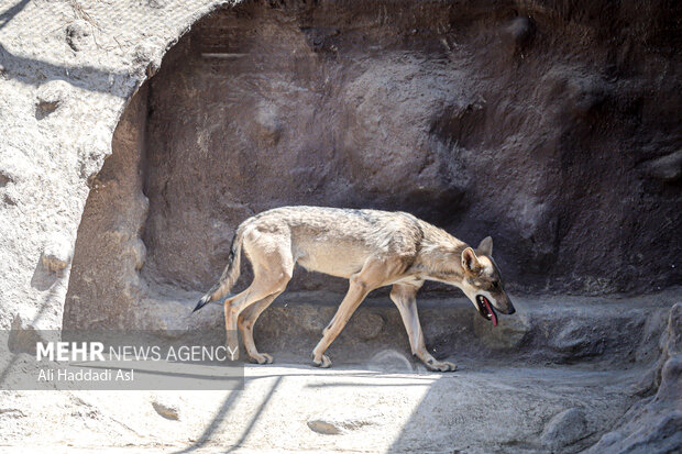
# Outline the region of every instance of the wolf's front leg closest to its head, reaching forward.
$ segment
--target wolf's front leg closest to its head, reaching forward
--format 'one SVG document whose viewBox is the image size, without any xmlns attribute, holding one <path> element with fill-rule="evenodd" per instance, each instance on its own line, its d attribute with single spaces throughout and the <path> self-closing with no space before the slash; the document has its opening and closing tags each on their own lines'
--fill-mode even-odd
<svg viewBox="0 0 682 454">
<path fill-rule="evenodd" d="M 409 336 L 409 345 L 413 355 L 426 364 L 431 370 L 451 372 L 457 370 L 457 365 L 447 361 L 438 361 L 427 351 L 421 323 L 419 323 L 419 313 L 417 312 L 417 291 L 421 287 L 419 283 L 414 284 L 394 284 L 391 291 L 391 299 L 398 307 L 403 323 Z"/>
</svg>

